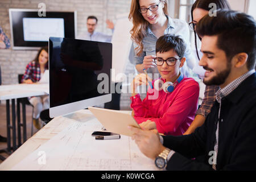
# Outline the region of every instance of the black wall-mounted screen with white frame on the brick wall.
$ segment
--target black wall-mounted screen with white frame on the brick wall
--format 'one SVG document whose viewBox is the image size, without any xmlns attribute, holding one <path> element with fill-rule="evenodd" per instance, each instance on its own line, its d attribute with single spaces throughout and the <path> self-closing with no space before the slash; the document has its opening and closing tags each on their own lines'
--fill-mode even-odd
<svg viewBox="0 0 256 182">
<path fill-rule="evenodd" d="M 47 46 L 50 36 L 76 38 L 76 11 L 9 9 L 13 49 L 39 49 Z"/>
</svg>

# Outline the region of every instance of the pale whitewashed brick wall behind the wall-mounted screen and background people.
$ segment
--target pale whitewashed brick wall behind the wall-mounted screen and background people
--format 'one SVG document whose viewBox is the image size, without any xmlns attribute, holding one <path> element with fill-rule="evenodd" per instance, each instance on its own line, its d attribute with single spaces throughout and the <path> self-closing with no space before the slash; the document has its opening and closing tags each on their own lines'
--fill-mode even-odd
<svg viewBox="0 0 256 182">
<path fill-rule="evenodd" d="M 86 31 L 86 18 L 95 15 L 98 18 L 97 31 L 111 34 L 106 28 L 106 19 L 129 13 L 130 0 L 1 0 L 0 1 L 0 25 L 6 35 L 11 39 L 9 9 L 38 9 L 39 3 L 46 4 L 47 11 L 77 11 L 77 35 Z M 12 46 L 12 45 L 11 45 Z M 37 51 L 24 51 L 0 49 L 0 65 L 2 71 L 2 85 L 17 84 L 18 74 L 23 74 L 27 63 L 36 56 Z M 129 64 L 127 70 L 133 71 Z M 121 107 L 129 107 L 129 96 L 121 97 Z"/>
</svg>

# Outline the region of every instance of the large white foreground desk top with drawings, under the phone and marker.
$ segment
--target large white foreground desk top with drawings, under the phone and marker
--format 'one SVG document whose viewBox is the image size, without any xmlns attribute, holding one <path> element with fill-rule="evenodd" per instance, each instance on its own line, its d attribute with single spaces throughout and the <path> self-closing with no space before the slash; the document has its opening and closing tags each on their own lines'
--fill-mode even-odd
<svg viewBox="0 0 256 182">
<path fill-rule="evenodd" d="M 0 170 L 157 170 L 130 137 L 95 140 L 91 134 L 101 127 L 89 110 L 56 117 L 1 163 Z"/>
</svg>

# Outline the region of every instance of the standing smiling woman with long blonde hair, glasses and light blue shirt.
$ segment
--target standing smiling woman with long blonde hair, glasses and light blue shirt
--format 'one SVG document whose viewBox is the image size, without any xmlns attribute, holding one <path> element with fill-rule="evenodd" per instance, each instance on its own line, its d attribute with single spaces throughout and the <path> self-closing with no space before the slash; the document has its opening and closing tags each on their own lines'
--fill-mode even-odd
<svg viewBox="0 0 256 182">
<path fill-rule="evenodd" d="M 156 40 L 166 34 L 180 35 L 186 43 L 185 57 L 193 69 L 196 59 L 191 53 L 188 24 L 168 16 L 167 0 L 132 0 L 129 19 L 133 21 L 131 39 L 134 42 L 135 68 L 139 73 L 159 73 L 154 65 Z M 188 76 L 186 65 L 181 72 Z M 152 75 L 154 76 L 154 75 Z"/>
</svg>

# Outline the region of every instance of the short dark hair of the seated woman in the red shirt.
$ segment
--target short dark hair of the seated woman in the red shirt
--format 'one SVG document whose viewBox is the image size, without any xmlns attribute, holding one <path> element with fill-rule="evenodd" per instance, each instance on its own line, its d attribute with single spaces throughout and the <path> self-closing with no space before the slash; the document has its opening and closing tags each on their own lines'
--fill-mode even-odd
<svg viewBox="0 0 256 182">
<path fill-rule="evenodd" d="M 158 38 L 158 40 L 156 41 L 155 52 L 162 53 L 170 51 L 171 49 L 174 49 L 179 57 L 184 57 L 186 49 L 184 40 L 181 39 L 179 36 L 171 34 L 160 36 L 160 38 Z"/>
</svg>

